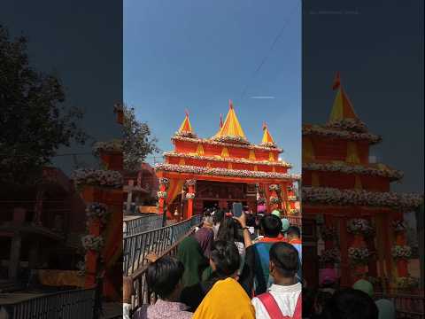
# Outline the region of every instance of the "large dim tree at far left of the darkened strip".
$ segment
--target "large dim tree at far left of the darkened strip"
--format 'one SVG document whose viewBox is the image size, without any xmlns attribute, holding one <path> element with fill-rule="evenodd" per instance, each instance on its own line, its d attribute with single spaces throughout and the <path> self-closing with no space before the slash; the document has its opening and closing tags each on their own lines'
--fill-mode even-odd
<svg viewBox="0 0 425 319">
<path fill-rule="evenodd" d="M 0 180 L 37 183 L 60 146 L 85 143 L 83 114 L 64 101 L 58 77 L 29 65 L 27 38 L 0 25 Z"/>
</svg>

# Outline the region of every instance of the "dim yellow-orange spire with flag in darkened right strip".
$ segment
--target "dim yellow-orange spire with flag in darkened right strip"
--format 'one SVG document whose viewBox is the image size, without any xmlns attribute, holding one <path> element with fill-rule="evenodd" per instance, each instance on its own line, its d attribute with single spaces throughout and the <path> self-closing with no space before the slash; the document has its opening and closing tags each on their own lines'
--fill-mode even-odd
<svg viewBox="0 0 425 319">
<path fill-rule="evenodd" d="M 336 90 L 336 97 L 334 100 L 334 105 L 332 106 L 332 111 L 328 121 L 343 121 L 343 120 L 359 120 L 359 117 L 354 112 L 352 107 L 352 102 L 345 93 L 345 90 L 341 84 L 341 78 L 339 72 L 336 73 L 332 89 Z"/>
</svg>

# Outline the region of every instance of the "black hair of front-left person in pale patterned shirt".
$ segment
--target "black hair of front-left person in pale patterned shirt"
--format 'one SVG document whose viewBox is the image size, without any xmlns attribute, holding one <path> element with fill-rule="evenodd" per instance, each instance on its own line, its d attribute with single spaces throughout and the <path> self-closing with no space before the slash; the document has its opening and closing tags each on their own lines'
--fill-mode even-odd
<svg viewBox="0 0 425 319">
<path fill-rule="evenodd" d="M 146 283 L 159 297 L 166 298 L 182 279 L 184 266 L 173 256 L 163 256 L 152 262 L 146 271 Z"/>
</svg>

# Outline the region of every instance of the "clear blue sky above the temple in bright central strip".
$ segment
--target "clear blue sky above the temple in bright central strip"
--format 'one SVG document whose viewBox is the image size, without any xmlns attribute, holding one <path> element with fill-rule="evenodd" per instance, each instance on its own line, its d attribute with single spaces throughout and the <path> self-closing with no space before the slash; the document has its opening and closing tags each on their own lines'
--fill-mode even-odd
<svg viewBox="0 0 425 319">
<path fill-rule="evenodd" d="M 124 1 L 124 100 L 162 151 L 172 150 L 186 108 L 197 135 L 213 136 L 228 99 L 248 139 L 260 143 L 266 121 L 282 159 L 299 173 L 298 0 Z"/>
</svg>

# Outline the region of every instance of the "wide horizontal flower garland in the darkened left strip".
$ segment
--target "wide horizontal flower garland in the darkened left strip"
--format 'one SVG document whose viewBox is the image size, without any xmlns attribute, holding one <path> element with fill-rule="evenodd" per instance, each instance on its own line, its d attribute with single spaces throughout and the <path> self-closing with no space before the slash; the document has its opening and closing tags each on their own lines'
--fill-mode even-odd
<svg viewBox="0 0 425 319">
<path fill-rule="evenodd" d="M 121 188 L 123 178 L 120 172 L 102 169 L 80 168 L 71 176 L 77 188 L 81 185 L 93 185 L 111 188 Z"/>
</svg>

